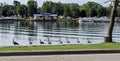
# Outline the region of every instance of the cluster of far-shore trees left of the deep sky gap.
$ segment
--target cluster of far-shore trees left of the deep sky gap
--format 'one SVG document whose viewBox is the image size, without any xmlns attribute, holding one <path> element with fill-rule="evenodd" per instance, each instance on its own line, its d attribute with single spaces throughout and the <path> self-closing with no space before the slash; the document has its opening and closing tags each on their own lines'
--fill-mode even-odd
<svg viewBox="0 0 120 61">
<path fill-rule="evenodd" d="M 14 0 L 13 5 L 0 3 L 0 14 L 3 16 L 22 16 L 29 17 L 37 13 L 38 4 L 34 0 L 29 0 L 27 5 L 21 4 L 19 1 Z"/>
</svg>

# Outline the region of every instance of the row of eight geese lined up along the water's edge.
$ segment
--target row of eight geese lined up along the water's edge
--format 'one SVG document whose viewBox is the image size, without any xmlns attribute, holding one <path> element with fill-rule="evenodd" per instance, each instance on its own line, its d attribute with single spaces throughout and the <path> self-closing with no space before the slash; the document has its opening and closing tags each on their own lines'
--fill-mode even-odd
<svg viewBox="0 0 120 61">
<path fill-rule="evenodd" d="M 28 41 L 29 41 L 29 45 L 32 46 L 32 44 L 33 44 L 32 39 L 29 38 Z M 61 38 L 60 38 L 58 41 L 59 41 L 59 44 L 64 44 L 64 43 L 65 43 L 65 42 L 62 41 Z M 13 38 L 13 41 L 12 41 L 12 42 L 13 42 L 14 46 L 20 45 L 17 41 L 15 41 L 14 38 Z M 77 42 L 78 44 L 81 43 L 80 40 L 79 40 L 79 38 L 77 38 L 76 42 Z M 70 41 L 68 38 L 66 38 L 66 43 L 67 43 L 67 44 L 70 44 L 71 41 Z M 87 43 L 91 43 L 91 41 L 90 41 L 88 38 L 87 38 Z M 46 43 L 45 43 L 44 41 L 42 41 L 41 39 L 39 39 L 39 44 L 40 44 L 40 45 L 43 45 L 43 44 L 46 44 Z M 47 39 L 47 44 L 49 44 L 49 45 L 52 44 L 52 41 L 50 40 L 49 37 L 48 37 L 48 39 Z"/>
</svg>

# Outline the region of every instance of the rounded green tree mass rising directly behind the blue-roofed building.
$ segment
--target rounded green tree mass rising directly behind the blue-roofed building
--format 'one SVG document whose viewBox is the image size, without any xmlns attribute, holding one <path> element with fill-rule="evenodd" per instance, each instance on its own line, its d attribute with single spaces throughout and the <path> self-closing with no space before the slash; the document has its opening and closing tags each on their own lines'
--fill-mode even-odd
<svg viewBox="0 0 120 61">
<path fill-rule="evenodd" d="M 61 2 L 54 3 L 52 1 L 46 1 L 42 5 L 42 12 L 54 13 L 58 15 L 63 15 L 63 5 Z"/>
</svg>

